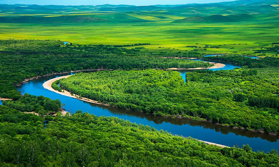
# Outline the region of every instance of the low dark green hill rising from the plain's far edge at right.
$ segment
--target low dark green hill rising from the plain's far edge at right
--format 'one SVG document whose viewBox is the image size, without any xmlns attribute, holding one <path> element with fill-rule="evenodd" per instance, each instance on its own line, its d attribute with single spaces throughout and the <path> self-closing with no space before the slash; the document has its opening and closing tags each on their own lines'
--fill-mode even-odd
<svg viewBox="0 0 279 167">
<path fill-rule="evenodd" d="M 173 21 L 173 23 L 226 23 L 252 21 L 255 17 L 249 14 L 193 16 Z"/>
</svg>

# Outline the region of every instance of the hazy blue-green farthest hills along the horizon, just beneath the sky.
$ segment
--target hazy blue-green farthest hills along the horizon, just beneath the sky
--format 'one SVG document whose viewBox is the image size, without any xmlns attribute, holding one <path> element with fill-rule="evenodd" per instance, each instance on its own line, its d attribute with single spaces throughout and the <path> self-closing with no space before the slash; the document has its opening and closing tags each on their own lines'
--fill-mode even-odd
<svg viewBox="0 0 279 167">
<path fill-rule="evenodd" d="M 205 4 L 186 4 L 186 5 L 150 5 L 150 6 L 134 6 L 134 5 L 23 5 L 23 4 L 0 4 L 1 16 L 18 15 L 18 14 L 57 14 L 67 15 L 68 13 L 112 13 L 112 12 L 143 12 L 156 11 L 158 13 L 170 14 L 174 16 L 208 16 L 208 15 L 226 15 L 226 14 L 268 14 L 278 13 L 278 0 L 246 0 L 232 1 L 221 3 L 205 3 Z M 113 16 L 112 16 L 113 17 Z"/>
</svg>

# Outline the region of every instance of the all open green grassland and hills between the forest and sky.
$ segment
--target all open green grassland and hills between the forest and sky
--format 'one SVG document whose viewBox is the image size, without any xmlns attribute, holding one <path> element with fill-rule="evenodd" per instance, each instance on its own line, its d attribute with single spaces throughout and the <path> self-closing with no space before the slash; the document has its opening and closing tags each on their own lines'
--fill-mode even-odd
<svg viewBox="0 0 279 167">
<path fill-rule="evenodd" d="M 176 7 L 0 4 L 0 39 L 57 39 L 108 45 L 150 43 L 142 51 L 262 55 L 253 50 L 279 42 L 278 2 L 242 3 Z M 205 45 L 209 45 L 206 50 Z"/>
</svg>

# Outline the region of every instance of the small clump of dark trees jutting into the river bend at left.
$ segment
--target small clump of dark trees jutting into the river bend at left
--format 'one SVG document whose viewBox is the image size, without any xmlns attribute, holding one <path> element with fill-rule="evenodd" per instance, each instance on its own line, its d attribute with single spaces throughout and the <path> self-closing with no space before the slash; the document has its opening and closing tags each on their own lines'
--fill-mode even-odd
<svg viewBox="0 0 279 167">
<path fill-rule="evenodd" d="M 3 105 L 9 108 L 14 108 L 22 112 L 36 112 L 40 115 L 44 115 L 48 112 L 58 112 L 61 107 L 60 100 L 51 100 L 44 96 L 34 96 L 25 93 L 18 100 L 3 101 Z"/>
</svg>

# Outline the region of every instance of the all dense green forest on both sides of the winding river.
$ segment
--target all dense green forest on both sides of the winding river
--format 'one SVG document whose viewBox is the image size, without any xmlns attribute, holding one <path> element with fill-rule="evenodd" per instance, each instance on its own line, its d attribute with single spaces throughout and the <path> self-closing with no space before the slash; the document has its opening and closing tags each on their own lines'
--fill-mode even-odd
<svg viewBox="0 0 279 167">
<path fill-rule="evenodd" d="M 73 91 L 93 95 L 120 108 L 159 115 L 179 114 L 278 133 L 278 97 L 275 96 L 278 59 L 224 56 L 223 61 L 247 67 L 186 73 L 185 84 L 176 71 L 151 69 L 209 66 L 200 61 L 163 58 L 201 57 L 200 53 L 146 53 L 139 49 L 64 46 L 59 40 L 0 40 L 0 96 L 14 99 L 0 106 L 0 166 L 278 166 L 275 150 L 265 154 L 253 152 L 249 145 L 243 145 L 242 149 L 220 148 L 191 137 L 173 136 L 149 126 L 81 111 L 62 116 L 60 100 L 21 95 L 15 89 L 24 79 L 57 72 L 127 69 L 131 71 L 80 73 L 69 79 L 79 76 L 85 79 L 74 80 L 69 87 L 81 86 L 73 87 Z M 85 80 L 90 75 L 96 78 L 88 83 Z M 127 81 L 123 82 L 121 76 Z M 68 83 L 67 79 L 62 81 Z M 57 85 L 56 88 L 61 89 Z M 221 94 L 217 94 L 220 90 Z M 42 117 L 23 113 L 28 111 L 40 115 L 58 112 L 55 117 L 48 114 Z M 44 123 L 47 123 L 45 127 Z"/>
</svg>

